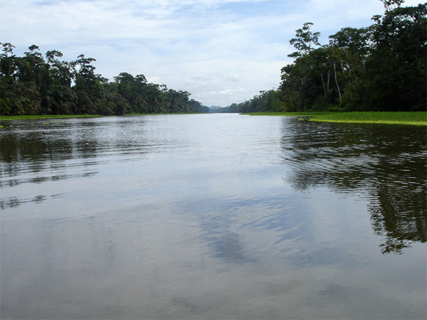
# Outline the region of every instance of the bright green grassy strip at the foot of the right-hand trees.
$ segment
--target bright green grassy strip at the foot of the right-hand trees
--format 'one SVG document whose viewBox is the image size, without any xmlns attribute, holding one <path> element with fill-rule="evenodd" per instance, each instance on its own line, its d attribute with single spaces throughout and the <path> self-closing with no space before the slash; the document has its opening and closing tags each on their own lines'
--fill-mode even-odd
<svg viewBox="0 0 427 320">
<path fill-rule="evenodd" d="M 253 112 L 249 115 L 309 117 L 310 121 L 427 125 L 427 112 Z"/>
</svg>

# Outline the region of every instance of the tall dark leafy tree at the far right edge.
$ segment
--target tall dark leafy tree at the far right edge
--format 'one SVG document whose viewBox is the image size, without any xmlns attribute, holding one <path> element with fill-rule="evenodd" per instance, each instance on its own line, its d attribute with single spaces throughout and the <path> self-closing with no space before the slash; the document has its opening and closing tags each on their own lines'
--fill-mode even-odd
<svg viewBox="0 0 427 320">
<path fill-rule="evenodd" d="M 427 4 L 418 4 L 374 17 L 366 67 L 375 110 L 426 110 L 426 16 Z"/>
</svg>

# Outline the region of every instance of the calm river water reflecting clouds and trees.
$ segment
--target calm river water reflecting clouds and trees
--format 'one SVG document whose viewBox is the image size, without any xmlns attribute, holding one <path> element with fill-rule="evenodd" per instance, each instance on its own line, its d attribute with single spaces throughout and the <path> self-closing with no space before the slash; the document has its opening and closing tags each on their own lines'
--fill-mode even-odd
<svg viewBox="0 0 427 320">
<path fill-rule="evenodd" d="M 1 319 L 426 319 L 424 127 L 2 125 Z"/>
</svg>

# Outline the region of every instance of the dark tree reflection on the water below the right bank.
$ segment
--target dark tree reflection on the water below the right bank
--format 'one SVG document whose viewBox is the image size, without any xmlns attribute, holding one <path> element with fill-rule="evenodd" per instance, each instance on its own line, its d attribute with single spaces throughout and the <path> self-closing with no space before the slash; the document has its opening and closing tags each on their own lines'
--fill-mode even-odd
<svg viewBox="0 0 427 320">
<path fill-rule="evenodd" d="M 426 242 L 426 129 L 283 119 L 285 181 L 298 191 L 327 186 L 369 201 L 381 252 Z"/>
</svg>

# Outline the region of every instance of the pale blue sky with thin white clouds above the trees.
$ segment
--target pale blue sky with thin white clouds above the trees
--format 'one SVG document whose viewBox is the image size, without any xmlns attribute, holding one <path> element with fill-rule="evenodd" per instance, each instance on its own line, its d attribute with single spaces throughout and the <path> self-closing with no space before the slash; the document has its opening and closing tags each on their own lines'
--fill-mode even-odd
<svg viewBox="0 0 427 320">
<path fill-rule="evenodd" d="M 280 85 L 295 51 L 289 41 L 305 22 L 325 44 L 383 13 L 379 0 L 0 0 L 0 42 L 19 56 L 31 45 L 66 61 L 84 54 L 110 81 L 143 74 L 226 107 Z"/>
</svg>

